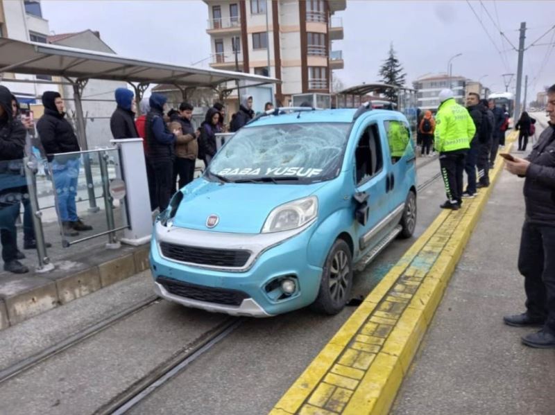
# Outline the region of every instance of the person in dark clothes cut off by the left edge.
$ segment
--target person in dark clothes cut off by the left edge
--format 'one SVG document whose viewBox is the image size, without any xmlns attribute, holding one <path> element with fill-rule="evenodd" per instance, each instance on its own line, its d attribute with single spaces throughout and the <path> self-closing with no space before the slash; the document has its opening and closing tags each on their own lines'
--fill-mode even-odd
<svg viewBox="0 0 555 415">
<path fill-rule="evenodd" d="M 24 274 L 28 268 L 17 261 L 15 220 L 26 179 L 22 174 L 25 127 L 12 116 L 12 94 L 0 85 L 0 240 L 4 270 Z"/>
</svg>

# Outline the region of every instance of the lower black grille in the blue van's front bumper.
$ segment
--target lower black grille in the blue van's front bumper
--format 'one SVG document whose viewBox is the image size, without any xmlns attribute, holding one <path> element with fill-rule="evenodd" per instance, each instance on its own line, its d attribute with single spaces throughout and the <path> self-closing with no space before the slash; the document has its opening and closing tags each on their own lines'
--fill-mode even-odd
<svg viewBox="0 0 555 415">
<path fill-rule="evenodd" d="M 225 304 L 225 306 L 241 306 L 243 300 L 249 298 L 248 294 L 242 291 L 184 283 L 167 276 L 159 276 L 156 282 L 162 284 L 171 294 L 178 295 L 179 297 L 207 301 L 208 303 Z"/>
</svg>

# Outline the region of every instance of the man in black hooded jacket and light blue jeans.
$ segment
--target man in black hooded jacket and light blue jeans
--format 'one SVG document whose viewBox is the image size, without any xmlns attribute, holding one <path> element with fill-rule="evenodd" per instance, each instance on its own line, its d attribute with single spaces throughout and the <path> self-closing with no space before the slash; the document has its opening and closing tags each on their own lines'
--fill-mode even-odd
<svg viewBox="0 0 555 415">
<path fill-rule="evenodd" d="M 75 197 L 80 168 L 80 154 L 53 156 L 51 154 L 79 152 L 79 144 L 73 127 L 65 118 L 64 101 L 58 92 L 46 91 L 42 94 L 44 115 L 37 123 L 37 132 L 44 152 L 46 152 L 56 186 L 58 215 L 62 221 L 65 236 L 77 236 L 78 231 L 90 231 L 77 216 Z"/>
</svg>

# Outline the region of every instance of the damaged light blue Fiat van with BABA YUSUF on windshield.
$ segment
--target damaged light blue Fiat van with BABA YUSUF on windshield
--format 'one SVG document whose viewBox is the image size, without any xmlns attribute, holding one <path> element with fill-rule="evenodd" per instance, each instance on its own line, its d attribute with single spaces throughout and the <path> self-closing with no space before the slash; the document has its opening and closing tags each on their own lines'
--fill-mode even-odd
<svg viewBox="0 0 555 415">
<path fill-rule="evenodd" d="M 361 107 L 277 109 L 223 145 L 154 224 L 155 291 L 187 307 L 335 314 L 353 271 L 416 225 L 407 118 Z"/>
</svg>

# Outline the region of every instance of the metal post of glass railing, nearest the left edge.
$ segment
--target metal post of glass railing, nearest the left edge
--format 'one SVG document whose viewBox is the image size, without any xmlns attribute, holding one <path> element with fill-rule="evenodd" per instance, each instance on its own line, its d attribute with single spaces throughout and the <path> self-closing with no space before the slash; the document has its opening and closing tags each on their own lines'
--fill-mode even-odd
<svg viewBox="0 0 555 415">
<path fill-rule="evenodd" d="M 42 231 L 42 212 L 39 209 L 39 201 L 37 199 L 37 161 L 30 161 L 29 157 L 23 159 L 25 169 L 25 178 L 27 181 L 27 189 L 29 202 L 31 202 L 31 210 L 33 211 L 33 229 L 35 230 L 35 241 L 37 244 L 37 256 L 39 266 L 36 272 L 49 272 L 54 269 L 53 263 L 50 262 L 48 254 L 46 254 L 46 244 L 44 243 L 44 231 Z"/>
</svg>

